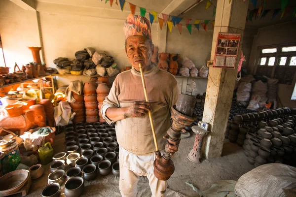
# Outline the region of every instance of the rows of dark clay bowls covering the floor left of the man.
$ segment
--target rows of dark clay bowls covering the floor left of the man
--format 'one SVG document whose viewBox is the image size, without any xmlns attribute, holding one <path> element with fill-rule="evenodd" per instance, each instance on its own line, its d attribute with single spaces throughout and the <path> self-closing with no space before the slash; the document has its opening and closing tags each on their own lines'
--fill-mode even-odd
<svg viewBox="0 0 296 197">
<path fill-rule="evenodd" d="M 59 196 L 60 187 L 64 185 L 66 197 L 79 197 L 83 193 L 84 181 L 106 176 L 111 171 L 119 176 L 119 146 L 114 127 L 99 122 L 67 125 L 67 151 L 53 156 L 49 185 L 43 189 L 42 196 L 51 196 L 49 193 Z M 65 172 L 67 167 L 70 169 Z"/>
</svg>

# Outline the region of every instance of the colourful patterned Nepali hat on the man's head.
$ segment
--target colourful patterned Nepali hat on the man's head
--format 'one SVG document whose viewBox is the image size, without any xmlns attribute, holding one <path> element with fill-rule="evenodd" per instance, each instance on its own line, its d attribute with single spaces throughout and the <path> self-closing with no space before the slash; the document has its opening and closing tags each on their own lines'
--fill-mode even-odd
<svg viewBox="0 0 296 197">
<path fill-rule="evenodd" d="M 131 35 L 143 35 L 152 39 L 150 22 L 143 16 L 129 14 L 125 20 L 123 31 L 125 39 Z"/>
</svg>

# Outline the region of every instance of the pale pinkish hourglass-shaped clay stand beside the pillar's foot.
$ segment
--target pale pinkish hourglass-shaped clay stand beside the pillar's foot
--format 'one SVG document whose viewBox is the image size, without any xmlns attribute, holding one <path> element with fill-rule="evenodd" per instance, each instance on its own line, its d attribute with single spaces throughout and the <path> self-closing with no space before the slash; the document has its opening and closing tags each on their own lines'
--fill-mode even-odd
<svg viewBox="0 0 296 197">
<path fill-rule="evenodd" d="M 187 158 L 194 163 L 200 164 L 201 146 L 204 136 L 209 132 L 205 131 L 198 126 L 193 126 L 192 131 L 195 132 L 195 141 L 192 150 L 187 154 Z"/>
</svg>

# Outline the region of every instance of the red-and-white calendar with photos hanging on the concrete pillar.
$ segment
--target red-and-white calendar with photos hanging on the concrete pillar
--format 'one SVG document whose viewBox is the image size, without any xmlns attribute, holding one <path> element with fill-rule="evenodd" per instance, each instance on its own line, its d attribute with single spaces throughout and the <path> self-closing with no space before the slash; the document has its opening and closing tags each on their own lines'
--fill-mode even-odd
<svg viewBox="0 0 296 197">
<path fill-rule="evenodd" d="M 235 67 L 240 37 L 240 33 L 218 33 L 214 67 Z"/>
</svg>

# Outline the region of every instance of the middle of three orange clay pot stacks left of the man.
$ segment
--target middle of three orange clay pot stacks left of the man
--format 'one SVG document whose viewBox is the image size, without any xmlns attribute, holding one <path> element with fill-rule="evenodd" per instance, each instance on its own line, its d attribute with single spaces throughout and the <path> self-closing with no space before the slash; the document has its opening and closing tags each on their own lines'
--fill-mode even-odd
<svg viewBox="0 0 296 197">
<path fill-rule="evenodd" d="M 99 122 L 98 101 L 96 93 L 96 83 L 84 83 L 83 93 L 85 102 L 85 114 L 87 123 Z"/>
</svg>

